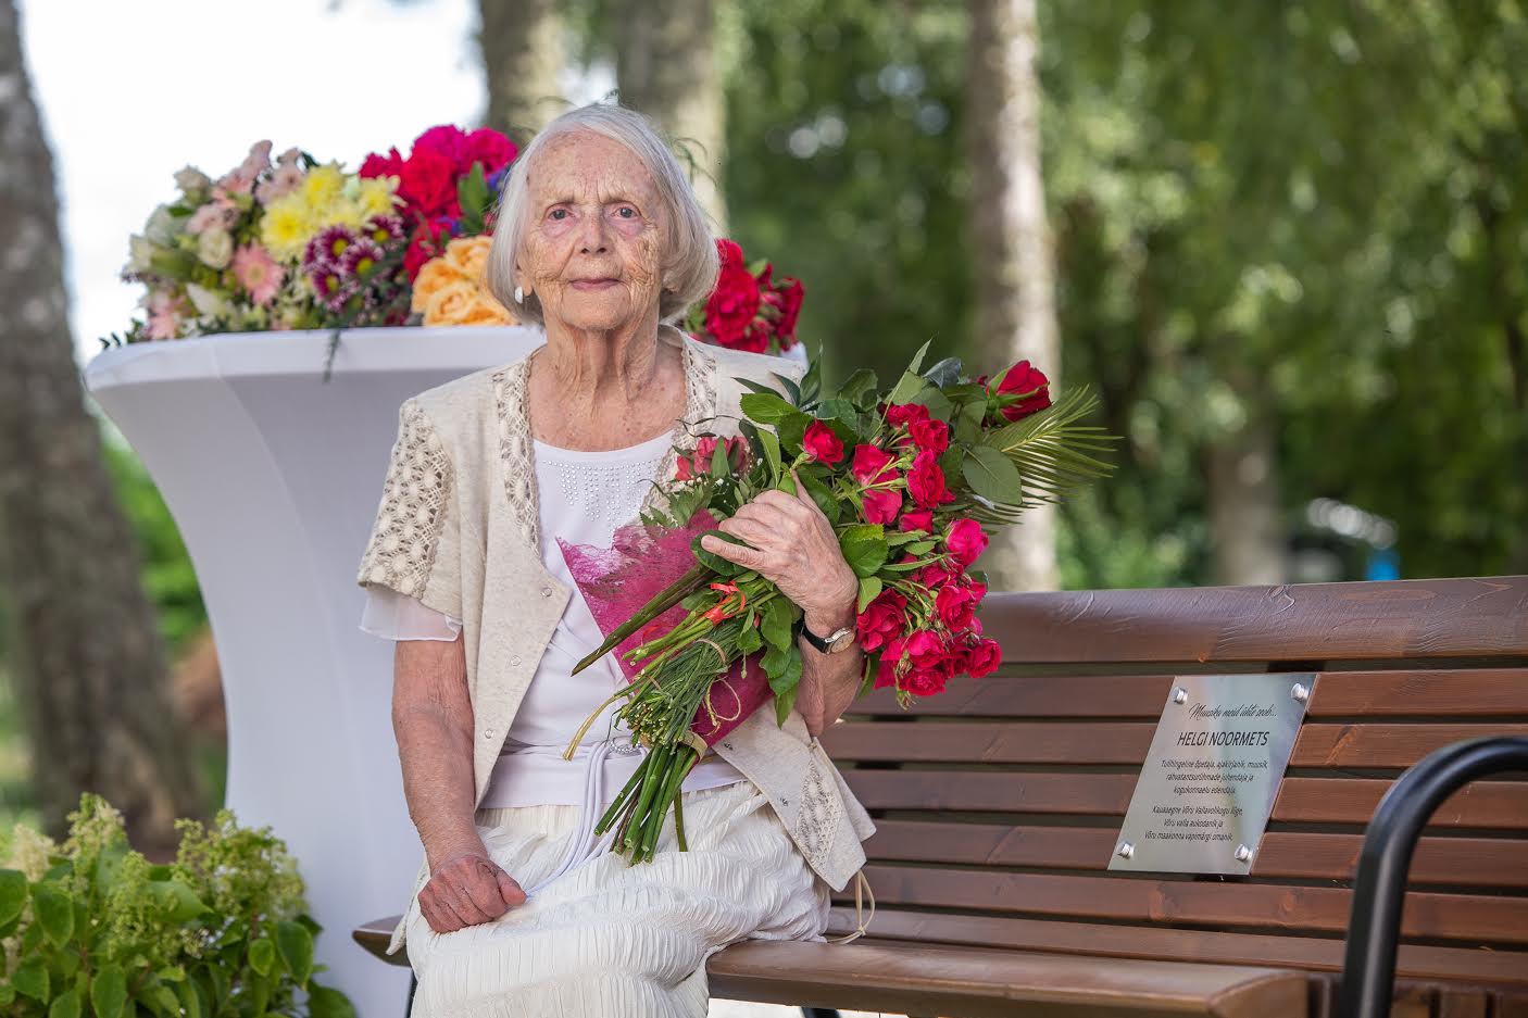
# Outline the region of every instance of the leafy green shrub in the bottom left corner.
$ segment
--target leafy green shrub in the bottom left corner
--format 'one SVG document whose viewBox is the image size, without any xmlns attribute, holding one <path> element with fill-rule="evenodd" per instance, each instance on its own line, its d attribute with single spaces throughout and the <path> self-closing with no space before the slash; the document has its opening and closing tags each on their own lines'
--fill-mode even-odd
<svg viewBox="0 0 1528 1018">
<path fill-rule="evenodd" d="M 17 1018 L 353 1018 L 313 974 L 318 923 L 269 827 L 180 821 L 167 865 L 127 844 L 86 795 L 63 845 L 18 825 L 0 870 L 0 1015 Z"/>
</svg>

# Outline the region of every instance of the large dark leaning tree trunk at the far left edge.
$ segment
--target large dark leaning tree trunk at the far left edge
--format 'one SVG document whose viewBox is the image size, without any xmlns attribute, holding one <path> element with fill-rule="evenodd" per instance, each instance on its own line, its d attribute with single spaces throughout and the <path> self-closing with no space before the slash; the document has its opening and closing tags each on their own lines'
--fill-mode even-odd
<svg viewBox="0 0 1528 1018">
<path fill-rule="evenodd" d="M 0 0 L 0 592 L 38 806 L 60 832 L 81 792 L 122 810 L 145 851 L 203 813 L 170 708 L 136 538 L 101 459 L 73 358 L 53 160 Z"/>
</svg>

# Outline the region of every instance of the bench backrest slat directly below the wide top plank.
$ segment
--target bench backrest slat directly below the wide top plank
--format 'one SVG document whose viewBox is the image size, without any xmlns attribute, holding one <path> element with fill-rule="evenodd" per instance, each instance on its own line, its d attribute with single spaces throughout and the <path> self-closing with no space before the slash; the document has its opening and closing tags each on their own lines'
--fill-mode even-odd
<svg viewBox="0 0 1528 1018">
<path fill-rule="evenodd" d="M 853 717 L 1112 717 L 1161 715 L 1172 676 L 989 676 L 957 679 L 911 711 L 889 689 L 850 706 Z M 1528 668 L 1329 671 L 1308 717 L 1508 717 L 1528 714 Z"/>
</svg>

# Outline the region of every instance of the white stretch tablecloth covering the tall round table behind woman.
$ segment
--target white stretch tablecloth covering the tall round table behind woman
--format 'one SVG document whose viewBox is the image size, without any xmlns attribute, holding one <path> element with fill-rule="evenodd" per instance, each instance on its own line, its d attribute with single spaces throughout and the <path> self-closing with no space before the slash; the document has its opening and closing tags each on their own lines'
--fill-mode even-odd
<svg viewBox="0 0 1528 1018">
<path fill-rule="evenodd" d="M 350 939 L 403 911 L 419 865 L 393 741 L 393 644 L 354 582 L 410 396 L 542 341 L 521 327 L 225 335 L 99 353 L 87 390 L 174 515 L 212 622 L 228 806 L 287 841 L 324 925 L 318 960 L 364 1018 L 403 1015 L 406 971 Z M 792 353 L 799 356 L 801 347 Z"/>
</svg>

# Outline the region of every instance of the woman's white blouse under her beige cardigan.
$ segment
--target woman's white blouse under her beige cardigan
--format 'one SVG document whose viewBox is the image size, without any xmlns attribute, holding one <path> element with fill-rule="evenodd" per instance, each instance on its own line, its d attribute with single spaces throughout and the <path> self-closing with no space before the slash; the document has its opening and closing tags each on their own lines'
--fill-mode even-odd
<svg viewBox="0 0 1528 1018">
<path fill-rule="evenodd" d="M 597 804 L 604 812 L 610 796 L 636 770 L 645 751 L 633 746 L 626 731 L 616 726 L 619 703 L 605 708 L 590 726 L 575 758 L 562 760 L 573 734 L 594 708 L 626 685 L 626 677 L 614 654 L 571 674 L 573 666 L 599 647 L 604 633 L 573 581 L 558 538 L 568 544 L 610 547 L 616 529 L 636 521 L 671 442 L 672 436 L 663 433 L 640 445 L 601 452 L 535 443 L 541 559 L 573 596 L 515 712 L 483 795 L 483 809 L 581 804 L 588 812 Z M 454 640 L 461 631 L 461 619 L 373 584 L 367 587 L 361 628 L 393 640 Z M 712 789 L 743 780 L 732 764 L 709 755 L 691 770 L 683 787 Z"/>
</svg>

